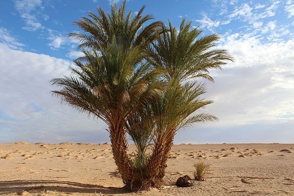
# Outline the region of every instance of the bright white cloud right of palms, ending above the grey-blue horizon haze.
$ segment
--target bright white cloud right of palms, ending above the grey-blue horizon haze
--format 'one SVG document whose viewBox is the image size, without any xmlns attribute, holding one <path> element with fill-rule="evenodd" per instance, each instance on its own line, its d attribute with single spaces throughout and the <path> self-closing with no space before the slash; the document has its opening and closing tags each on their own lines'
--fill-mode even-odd
<svg viewBox="0 0 294 196">
<path fill-rule="evenodd" d="M 221 118 L 218 126 L 294 123 L 294 41 L 261 43 L 236 33 L 219 47 L 229 50 L 235 62 L 214 73 L 215 83 L 205 95 L 215 101 L 207 110 Z M 293 115 L 279 117 L 287 113 Z"/>
</svg>

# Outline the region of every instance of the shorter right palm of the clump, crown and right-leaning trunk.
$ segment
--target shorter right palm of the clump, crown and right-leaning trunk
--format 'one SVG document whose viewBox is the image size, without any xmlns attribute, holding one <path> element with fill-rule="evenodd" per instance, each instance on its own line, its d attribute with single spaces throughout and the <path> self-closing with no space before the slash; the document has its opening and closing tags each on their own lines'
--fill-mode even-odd
<svg viewBox="0 0 294 196">
<path fill-rule="evenodd" d="M 183 127 L 205 121 L 216 121 L 208 113 L 195 114 L 212 101 L 200 98 L 206 92 L 205 85 L 198 82 L 203 78 L 213 82 L 210 69 L 221 69 L 232 57 L 226 50 L 213 49 L 219 39 L 217 34 L 202 36 L 199 28 L 191 30 L 192 22 L 183 19 L 179 30 L 169 22 L 168 31 L 158 34 L 156 42 L 149 47 L 151 62 L 164 72 L 169 84 L 163 96 L 152 102 L 155 119 L 152 155 L 146 163 L 146 173 L 153 186 L 160 186 L 165 175 L 166 162 L 176 132 Z"/>
</svg>

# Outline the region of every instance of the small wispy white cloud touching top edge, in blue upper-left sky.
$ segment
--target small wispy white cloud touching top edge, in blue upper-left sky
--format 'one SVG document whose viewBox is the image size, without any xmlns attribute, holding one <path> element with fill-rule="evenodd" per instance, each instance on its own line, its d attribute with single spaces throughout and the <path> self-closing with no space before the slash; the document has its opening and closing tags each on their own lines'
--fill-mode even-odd
<svg viewBox="0 0 294 196">
<path fill-rule="evenodd" d="M 25 30 L 35 31 L 39 28 L 44 28 L 42 24 L 32 14 L 36 9 L 43 9 L 42 0 L 17 0 L 15 2 L 15 8 L 19 12 L 20 17 L 25 21 Z M 48 18 L 47 18 L 48 19 Z"/>
</svg>

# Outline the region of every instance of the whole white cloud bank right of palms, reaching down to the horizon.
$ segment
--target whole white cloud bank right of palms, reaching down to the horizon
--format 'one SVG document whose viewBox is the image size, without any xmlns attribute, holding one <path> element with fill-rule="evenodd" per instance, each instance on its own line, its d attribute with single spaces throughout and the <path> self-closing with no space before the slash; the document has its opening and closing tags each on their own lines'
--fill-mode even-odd
<svg viewBox="0 0 294 196">
<path fill-rule="evenodd" d="M 219 121 L 181 130 L 175 142 L 292 143 L 294 40 L 265 43 L 235 33 L 218 47 L 229 50 L 235 62 L 212 71 L 215 83 L 207 84 L 204 97 L 214 103 L 202 111 Z"/>
</svg>

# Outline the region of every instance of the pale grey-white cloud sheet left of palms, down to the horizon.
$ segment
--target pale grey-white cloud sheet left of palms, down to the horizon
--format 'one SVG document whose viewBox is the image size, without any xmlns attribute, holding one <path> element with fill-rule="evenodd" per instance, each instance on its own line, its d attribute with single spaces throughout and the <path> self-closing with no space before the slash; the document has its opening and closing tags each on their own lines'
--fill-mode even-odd
<svg viewBox="0 0 294 196">
<path fill-rule="evenodd" d="M 49 81 L 68 75 L 70 62 L 0 45 L 1 142 L 107 141 L 105 124 L 60 104 Z M 13 60 L 12 60 L 13 59 Z"/>
</svg>

